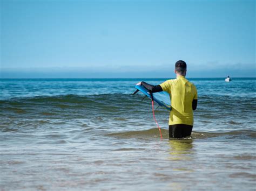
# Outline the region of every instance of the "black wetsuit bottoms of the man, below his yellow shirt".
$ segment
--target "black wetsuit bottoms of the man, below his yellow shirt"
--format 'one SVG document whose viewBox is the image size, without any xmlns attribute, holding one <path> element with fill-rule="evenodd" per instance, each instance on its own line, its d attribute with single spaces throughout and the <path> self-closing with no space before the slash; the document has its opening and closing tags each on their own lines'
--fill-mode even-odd
<svg viewBox="0 0 256 191">
<path fill-rule="evenodd" d="M 193 126 L 192 125 L 184 125 L 184 124 L 176 124 L 169 125 L 169 138 L 184 138 L 191 135 Z"/>
</svg>

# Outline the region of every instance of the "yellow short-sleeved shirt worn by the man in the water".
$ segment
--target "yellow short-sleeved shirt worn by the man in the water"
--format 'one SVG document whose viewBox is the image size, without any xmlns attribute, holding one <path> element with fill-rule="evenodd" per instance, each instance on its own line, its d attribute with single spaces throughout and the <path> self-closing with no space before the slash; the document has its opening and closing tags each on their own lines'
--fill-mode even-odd
<svg viewBox="0 0 256 191">
<path fill-rule="evenodd" d="M 179 76 L 160 84 L 161 88 L 170 94 L 172 110 L 169 125 L 193 125 L 192 102 L 197 100 L 197 89 L 193 83 Z"/>
</svg>

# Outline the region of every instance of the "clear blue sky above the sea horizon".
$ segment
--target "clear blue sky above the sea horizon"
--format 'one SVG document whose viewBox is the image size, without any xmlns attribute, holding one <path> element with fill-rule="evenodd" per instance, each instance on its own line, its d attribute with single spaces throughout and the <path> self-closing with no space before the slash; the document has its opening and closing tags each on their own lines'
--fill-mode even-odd
<svg viewBox="0 0 256 191">
<path fill-rule="evenodd" d="M 1 0 L 0 77 L 256 77 L 255 1 Z"/>
</svg>

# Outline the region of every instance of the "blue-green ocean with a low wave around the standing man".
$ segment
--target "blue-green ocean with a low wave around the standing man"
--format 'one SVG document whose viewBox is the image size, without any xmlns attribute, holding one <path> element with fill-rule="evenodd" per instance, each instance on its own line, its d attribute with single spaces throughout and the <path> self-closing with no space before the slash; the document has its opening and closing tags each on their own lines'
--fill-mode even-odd
<svg viewBox="0 0 256 191">
<path fill-rule="evenodd" d="M 0 190 L 255 190 L 256 78 L 188 79 L 191 138 L 169 139 L 135 84 L 0 79 Z"/>
</svg>

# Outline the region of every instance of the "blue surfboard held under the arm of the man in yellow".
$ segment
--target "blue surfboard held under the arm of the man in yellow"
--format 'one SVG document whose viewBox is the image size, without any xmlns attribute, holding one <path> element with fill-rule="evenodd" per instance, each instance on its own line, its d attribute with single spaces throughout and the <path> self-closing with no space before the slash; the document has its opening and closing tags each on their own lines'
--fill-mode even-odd
<svg viewBox="0 0 256 191">
<path fill-rule="evenodd" d="M 138 91 L 142 92 L 145 96 L 149 97 L 152 100 L 152 97 L 149 91 L 144 88 L 142 85 L 136 85 L 135 88 L 137 89 L 133 94 L 136 94 Z M 171 100 L 170 95 L 166 91 L 160 91 L 153 93 L 153 100 L 154 102 L 158 103 L 160 106 L 165 107 L 168 110 L 171 110 Z"/>
</svg>

